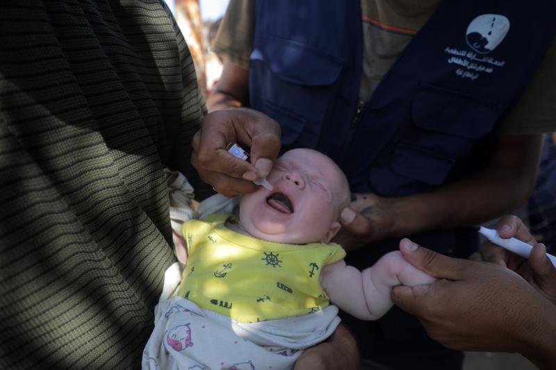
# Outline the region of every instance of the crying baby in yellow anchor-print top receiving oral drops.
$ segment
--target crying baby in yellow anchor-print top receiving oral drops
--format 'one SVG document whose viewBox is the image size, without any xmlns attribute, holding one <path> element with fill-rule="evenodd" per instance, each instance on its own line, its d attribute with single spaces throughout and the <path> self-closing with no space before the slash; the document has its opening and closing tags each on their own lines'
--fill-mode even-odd
<svg viewBox="0 0 556 370">
<path fill-rule="evenodd" d="M 186 269 L 177 296 L 157 306 L 143 367 L 291 369 L 334 332 L 336 306 L 375 320 L 393 305 L 392 287 L 435 280 L 398 251 L 363 271 L 345 264 L 330 240 L 350 189 L 326 155 L 288 151 L 267 180 L 270 192 L 242 197 L 239 219 L 183 225 Z"/>
</svg>

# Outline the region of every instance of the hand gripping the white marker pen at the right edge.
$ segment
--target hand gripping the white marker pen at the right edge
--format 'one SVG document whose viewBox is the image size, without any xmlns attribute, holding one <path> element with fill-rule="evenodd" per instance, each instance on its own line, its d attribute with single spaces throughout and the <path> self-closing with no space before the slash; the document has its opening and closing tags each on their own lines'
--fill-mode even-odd
<svg viewBox="0 0 556 370">
<path fill-rule="evenodd" d="M 532 245 L 529 259 L 491 242 L 485 242 L 481 248 L 482 260 L 516 271 L 549 301 L 556 303 L 556 267 L 546 256 L 546 246 L 538 244 L 523 221 L 516 216 L 502 217 L 498 221 L 496 230 L 504 239 L 516 237 Z"/>
</svg>

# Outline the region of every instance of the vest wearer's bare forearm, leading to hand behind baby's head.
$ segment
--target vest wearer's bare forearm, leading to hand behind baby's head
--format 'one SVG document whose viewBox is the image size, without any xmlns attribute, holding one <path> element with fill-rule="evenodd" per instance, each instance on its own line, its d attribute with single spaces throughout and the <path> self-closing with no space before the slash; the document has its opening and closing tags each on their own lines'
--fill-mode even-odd
<svg viewBox="0 0 556 370">
<path fill-rule="evenodd" d="M 392 212 L 387 236 L 480 224 L 514 212 L 537 177 L 542 135 L 499 140 L 487 165 L 457 183 L 425 194 L 386 199 Z"/>
</svg>

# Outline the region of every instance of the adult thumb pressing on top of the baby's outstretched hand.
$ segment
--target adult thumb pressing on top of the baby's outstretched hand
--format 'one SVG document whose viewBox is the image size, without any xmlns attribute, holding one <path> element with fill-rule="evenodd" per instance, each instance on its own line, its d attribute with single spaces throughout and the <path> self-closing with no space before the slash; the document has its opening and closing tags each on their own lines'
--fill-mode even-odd
<svg viewBox="0 0 556 370">
<path fill-rule="evenodd" d="M 400 240 L 400 251 L 407 262 L 436 278 L 459 280 L 470 262 L 436 253 L 407 238 Z"/>
</svg>

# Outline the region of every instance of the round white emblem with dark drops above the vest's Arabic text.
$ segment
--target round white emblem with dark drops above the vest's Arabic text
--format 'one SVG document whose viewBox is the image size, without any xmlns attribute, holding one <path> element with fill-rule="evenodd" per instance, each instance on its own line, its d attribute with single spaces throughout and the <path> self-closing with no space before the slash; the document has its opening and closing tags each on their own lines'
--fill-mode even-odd
<svg viewBox="0 0 556 370">
<path fill-rule="evenodd" d="M 504 40 L 508 30 L 509 19 L 503 15 L 480 15 L 467 27 L 467 44 L 477 53 L 490 53 Z"/>
</svg>

